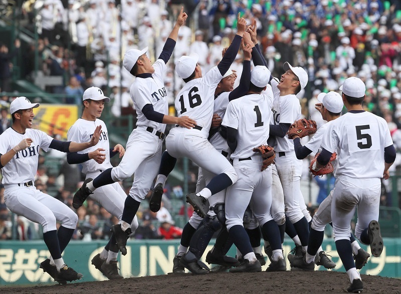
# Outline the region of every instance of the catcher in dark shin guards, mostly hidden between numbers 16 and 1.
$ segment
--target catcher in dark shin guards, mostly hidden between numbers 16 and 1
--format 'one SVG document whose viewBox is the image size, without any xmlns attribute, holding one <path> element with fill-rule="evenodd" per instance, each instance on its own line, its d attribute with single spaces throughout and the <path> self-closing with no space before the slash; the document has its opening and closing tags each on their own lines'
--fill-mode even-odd
<svg viewBox="0 0 401 294">
<path fill-rule="evenodd" d="M 244 38 L 245 38 L 244 33 Z M 249 34 L 248 34 L 249 35 Z M 251 75 L 251 47 L 243 44 L 243 51 L 245 55 L 244 71 L 241 76 L 241 82 L 239 87 L 233 91 L 235 75 L 229 69 L 223 76 L 221 82 L 217 85 L 215 90 L 215 101 L 214 101 L 214 113 L 221 118 L 224 117 L 227 106 L 230 101 L 242 97 L 248 92 Z M 225 53 L 223 51 L 223 57 Z M 220 124 L 219 124 L 220 125 Z M 223 127 L 216 127 L 210 131 L 209 141 L 216 148 L 218 152 L 223 154 L 227 161 L 231 151 L 228 147 L 225 139 L 226 132 Z M 204 168 L 199 168 L 198 181 L 196 185 L 197 192 L 202 190 L 216 175 Z M 159 183 L 159 185 L 161 185 Z M 181 236 L 180 246 L 178 248 L 177 255 L 173 259 L 173 272 L 184 272 L 184 267 L 187 267 L 192 273 L 203 274 L 208 273 L 209 268 L 203 264 L 203 267 L 198 266 L 200 257 L 203 253 L 209 241 L 213 237 L 216 231 L 225 225 L 225 214 L 224 214 L 224 202 L 226 197 L 226 189 L 212 195 L 209 200 L 210 210 L 205 219 L 198 216 L 196 212 L 193 212 L 187 225 L 184 227 L 184 232 Z M 196 229 L 196 231 L 195 231 Z M 215 246 L 211 251 L 208 252 L 206 260 L 208 263 L 220 264 L 224 267 L 231 267 L 239 265 L 240 263 L 236 258 L 225 256 L 227 251 L 223 247 L 228 249 L 231 247 L 228 232 L 225 227 L 219 234 L 216 240 Z M 231 243 L 231 245 L 229 244 Z M 186 245 L 186 246 L 185 246 Z M 189 245 L 189 251 L 187 252 Z M 185 254 L 186 253 L 186 254 Z M 182 258 L 182 262 L 179 260 Z M 196 260 L 196 262 L 194 261 Z"/>
</svg>

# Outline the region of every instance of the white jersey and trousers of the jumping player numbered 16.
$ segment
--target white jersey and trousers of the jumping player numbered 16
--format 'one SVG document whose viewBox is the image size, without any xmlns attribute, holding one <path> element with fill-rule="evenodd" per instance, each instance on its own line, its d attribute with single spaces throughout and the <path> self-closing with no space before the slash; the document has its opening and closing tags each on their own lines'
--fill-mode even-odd
<svg viewBox="0 0 401 294">
<path fill-rule="evenodd" d="M 204 77 L 186 83 L 175 98 L 178 116 L 188 116 L 196 121 L 196 127 L 172 128 L 166 138 L 166 149 L 175 157 L 187 157 L 196 165 L 213 174 L 227 174 L 237 181 L 237 174 L 221 152 L 208 141 L 213 117 L 214 93 L 223 79 L 218 67 L 212 68 Z"/>
</svg>

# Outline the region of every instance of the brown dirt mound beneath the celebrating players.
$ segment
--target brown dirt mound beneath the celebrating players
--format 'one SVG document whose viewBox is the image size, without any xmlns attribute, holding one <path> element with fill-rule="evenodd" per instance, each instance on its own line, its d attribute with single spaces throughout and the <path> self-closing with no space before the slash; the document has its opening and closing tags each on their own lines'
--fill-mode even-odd
<svg viewBox="0 0 401 294">
<path fill-rule="evenodd" d="M 399 293 L 401 280 L 362 275 L 368 293 Z M 0 293 L 341 293 L 349 286 L 345 272 L 209 273 L 206 275 L 157 275 L 118 281 L 74 282 L 66 286 L 0 287 Z"/>
</svg>

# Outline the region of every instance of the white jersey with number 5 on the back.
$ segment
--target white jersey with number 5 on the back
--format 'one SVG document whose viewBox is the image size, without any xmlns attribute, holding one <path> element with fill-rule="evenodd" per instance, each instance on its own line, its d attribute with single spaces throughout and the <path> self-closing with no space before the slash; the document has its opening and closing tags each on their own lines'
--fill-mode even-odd
<svg viewBox="0 0 401 294">
<path fill-rule="evenodd" d="M 352 178 L 381 177 L 384 147 L 391 144 L 387 123 L 368 112 L 347 113 L 334 120 L 322 141 L 330 152 L 339 147 L 337 176 Z"/>
</svg>

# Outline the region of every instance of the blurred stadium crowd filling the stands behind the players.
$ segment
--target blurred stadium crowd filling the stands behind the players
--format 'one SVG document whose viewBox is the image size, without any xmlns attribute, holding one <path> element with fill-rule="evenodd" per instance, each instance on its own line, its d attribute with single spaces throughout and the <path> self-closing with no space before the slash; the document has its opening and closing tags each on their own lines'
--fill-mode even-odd
<svg viewBox="0 0 401 294">
<path fill-rule="evenodd" d="M 21 23 L 40 34 L 37 46 L 40 71 L 45 76 L 64 79 L 62 85 L 47 90 L 65 93 L 68 95 L 66 103 L 80 105 L 85 89 L 91 86 L 102 88 L 113 98 L 111 111 L 118 117 L 122 108 L 131 108 L 131 113 L 135 113 L 128 92 L 134 77 L 122 66 L 124 53 L 132 48 L 148 46 L 149 57 L 154 61 L 171 31 L 170 20 L 176 18 L 182 5 L 189 18 L 179 31 L 164 80 L 170 105 L 182 86 L 182 80 L 174 71 L 174 59 L 195 52 L 199 55 L 198 63 L 202 70 L 208 71 L 221 60 L 222 50 L 235 35 L 233 28 L 240 12 L 250 25 L 256 21 L 261 49 L 274 77 L 283 73 L 284 61 L 308 72 L 308 86 L 297 95 L 305 117 L 310 116 L 318 127 L 321 126 L 324 122 L 314 109 L 317 95 L 337 91 L 347 77 L 356 76 L 366 85 L 365 109 L 386 119 L 394 146 L 401 150 L 399 1 L 26 1 L 22 6 Z M 0 45 L 0 79 L 10 78 L 10 61 L 19 48 L 15 44 L 9 52 L 6 45 Z M 21 68 L 26 79 L 33 80 L 35 50 L 36 44 L 30 44 L 22 54 L 23 60 L 19 61 L 24 64 Z M 238 54 L 232 65 L 232 69 L 237 71 L 237 83 L 241 77 L 242 61 L 243 56 Z M 9 84 L 6 87 L 2 91 L 13 90 Z M 7 107 L 12 97 L 0 96 L 0 104 Z M 2 110 L 1 117 L 0 133 L 10 124 L 7 109 Z M 57 157 L 55 154 L 51 156 Z M 38 168 L 35 185 L 72 207 L 73 193 L 81 186 L 79 167 L 62 164 L 59 170 L 49 173 L 44 162 L 45 157 Z M 399 165 L 399 162 L 394 164 L 394 169 Z M 64 174 L 69 176 L 63 180 Z M 73 174 L 77 177 L 72 177 Z M 188 213 L 187 206 L 181 207 L 181 211 L 174 208 L 173 215 L 169 213 L 174 206 L 171 199 L 182 199 L 178 190 L 177 187 L 166 189 L 164 209 L 158 213 L 149 210 L 138 213 L 141 224 L 135 238 L 180 237 L 182 230 L 174 226 L 175 213 Z M 327 183 L 324 182 L 321 191 L 324 194 L 326 190 Z M 382 194 L 382 204 L 391 205 L 389 185 Z M 75 239 L 110 237 L 110 227 L 116 219 L 98 204 L 88 200 L 77 214 L 80 225 L 74 234 Z M 15 222 L 21 240 L 35 238 L 40 233 L 39 228 L 26 219 L 18 218 Z M 0 192 L 0 239 L 8 238 L 11 238 L 11 218 Z"/>
</svg>

